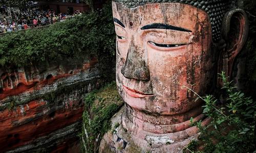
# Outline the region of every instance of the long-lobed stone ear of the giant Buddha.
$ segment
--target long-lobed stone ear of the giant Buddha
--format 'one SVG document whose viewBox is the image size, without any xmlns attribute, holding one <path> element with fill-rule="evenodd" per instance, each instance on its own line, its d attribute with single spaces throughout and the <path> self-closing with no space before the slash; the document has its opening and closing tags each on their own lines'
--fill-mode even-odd
<svg viewBox="0 0 256 153">
<path fill-rule="evenodd" d="M 231 10 L 223 17 L 222 35 L 226 45 L 222 54 L 222 70 L 228 76 L 231 76 L 233 61 L 246 42 L 248 31 L 248 18 L 242 9 Z"/>
</svg>

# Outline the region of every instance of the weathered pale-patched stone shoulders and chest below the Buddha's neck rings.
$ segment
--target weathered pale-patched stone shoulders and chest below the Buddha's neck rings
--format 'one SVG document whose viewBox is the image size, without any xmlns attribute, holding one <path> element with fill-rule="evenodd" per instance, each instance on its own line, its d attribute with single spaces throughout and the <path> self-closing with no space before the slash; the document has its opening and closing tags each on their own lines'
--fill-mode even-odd
<svg viewBox="0 0 256 153">
<path fill-rule="evenodd" d="M 195 126 L 166 134 L 146 132 L 136 127 L 124 113 L 125 107 L 112 118 L 113 130 L 104 135 L 99 152 L 182 152 L 184 146 L 199 135 Z M 207 122 L 208 118 L 202 125 Z M 120 125 L 115 128 L 117 123 Z"/>
</svg>

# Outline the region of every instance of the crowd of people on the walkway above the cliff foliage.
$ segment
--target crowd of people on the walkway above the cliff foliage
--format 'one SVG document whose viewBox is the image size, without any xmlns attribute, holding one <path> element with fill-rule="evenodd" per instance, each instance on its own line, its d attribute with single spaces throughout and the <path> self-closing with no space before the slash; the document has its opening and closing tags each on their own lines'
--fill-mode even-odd
<svg viewBox="0 0 256 153">
<path fill-rule="evenodd" d="M 0 33 L 12 31 L 27 30 L 30 28 L 41 27 L 54 24 L 57 21 L 65 21 L 67 18 L 72 18 L 81 15 L 80 11 L 71 13 L 59 13 L 54 10 L 41 10 L 39 8 L 27 9 L 22 11 L 8 11 L 7 8 L 1 7 L 1 14 L 4 18 L 0 19 Z M 10 12 L 10 13 L 9 13 Z M 10 17 L 6 17 L 6 16 Z"/>
</svg>

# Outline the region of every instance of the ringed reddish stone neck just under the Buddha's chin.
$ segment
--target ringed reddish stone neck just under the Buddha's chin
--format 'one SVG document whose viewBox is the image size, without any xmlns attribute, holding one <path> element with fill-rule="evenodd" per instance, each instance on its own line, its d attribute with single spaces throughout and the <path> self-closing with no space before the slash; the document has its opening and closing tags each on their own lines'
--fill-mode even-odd
<svg viewBox="0 0 256 153">
<path fill-rule="evenodd" d="M 204 118 L 202 108 L 196 107 L 183 114 L 177 115 L 156 115 L 135 110 L 125 105 L 123 117 L 131 121 L 139 129 L 156 134 L 175 133 L 188 129 L 190 118 L 199 121 Z"/>
</svg>

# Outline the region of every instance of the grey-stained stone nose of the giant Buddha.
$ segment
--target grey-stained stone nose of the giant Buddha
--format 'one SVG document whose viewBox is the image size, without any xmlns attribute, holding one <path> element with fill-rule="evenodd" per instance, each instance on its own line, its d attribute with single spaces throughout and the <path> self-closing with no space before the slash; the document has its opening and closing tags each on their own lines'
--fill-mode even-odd
<svg viewBox="0 0 256 153">
<path fill-rule="evenodd" d="M 150 70 L 147 64 L 147 56 L 139 45 L 131 41 L 126 61 L 121 68 L 121 73 L 127 79 L 150 81 Z"/>
</svg>

